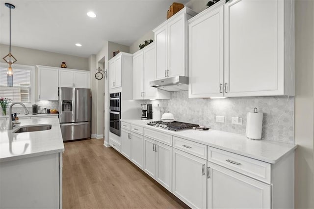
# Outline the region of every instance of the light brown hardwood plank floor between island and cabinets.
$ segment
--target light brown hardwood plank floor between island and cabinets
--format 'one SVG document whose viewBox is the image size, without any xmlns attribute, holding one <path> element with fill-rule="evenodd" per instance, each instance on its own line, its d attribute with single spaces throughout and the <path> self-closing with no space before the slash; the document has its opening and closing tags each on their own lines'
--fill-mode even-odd
<svg viewBox="0 0 314 209">
<path fill-rule="evenodd" d="M 64 143 L 64 209 L 188 208 L 104 139 Z"/>
</svg>

